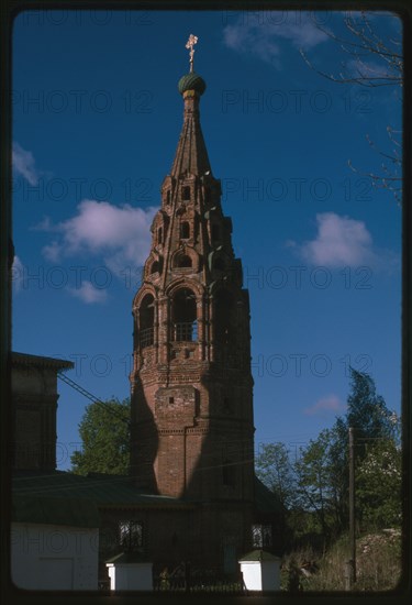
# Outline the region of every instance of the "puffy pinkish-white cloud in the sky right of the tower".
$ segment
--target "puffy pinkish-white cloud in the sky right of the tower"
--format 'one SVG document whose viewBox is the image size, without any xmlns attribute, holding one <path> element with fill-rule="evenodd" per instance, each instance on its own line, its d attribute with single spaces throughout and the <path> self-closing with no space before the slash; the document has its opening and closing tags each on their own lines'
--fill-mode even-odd
<svg viewBox="0 0 412 605">
<path fill-rule="evenodd" d="M 363 221 L 339 217 L 335 212 L 316 215 L 318 234 L 314 240 L 288 245 L 314 265 L 329 267 L 358 266 L 376 261 L 372 238 Z"/>
</svg>

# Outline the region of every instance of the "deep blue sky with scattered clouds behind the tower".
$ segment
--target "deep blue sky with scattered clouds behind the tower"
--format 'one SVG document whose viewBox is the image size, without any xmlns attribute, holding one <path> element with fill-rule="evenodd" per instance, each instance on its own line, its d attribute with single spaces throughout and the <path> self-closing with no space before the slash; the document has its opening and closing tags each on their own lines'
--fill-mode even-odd
<svg viewBox="0 0 412 605">
<path fill-rule="evenodd" d="M 389 14 L 374 26 L 400 40 Z M 339 13 L 21 13 L 13 36 L 13 349 L 76 362 L 100 398 L 129 395 L 132 299 L 181 122 L 185 44 L 250 294 L 256 451 L 291 452 L 344 414 L 348 365 L 400 410 L 402 212 L 364 173 L 392 152 L 397 87 L 332 82 Z M 369 61 L 369 59 L 367 59 Z M 378 73 L 381 66 L 369 62 Z M 356 66 L 348 63 L 347 69 Z M 350 161 L 350 169 L 348 165 Z M 87 399 L 59 383 L 69 466 Z"/>
</svg>

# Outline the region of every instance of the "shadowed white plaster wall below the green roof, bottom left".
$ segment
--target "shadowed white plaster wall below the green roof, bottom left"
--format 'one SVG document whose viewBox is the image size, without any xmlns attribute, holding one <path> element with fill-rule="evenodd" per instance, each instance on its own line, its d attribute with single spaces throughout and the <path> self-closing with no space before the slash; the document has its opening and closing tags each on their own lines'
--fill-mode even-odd
<svg viewBox="0 0 412 605">
<path fill-rule="evenodd" d="M 11 576 L 20 588 L 97 590 L 98 558 L 98 528 L 11 526 Z"/>
</svg>

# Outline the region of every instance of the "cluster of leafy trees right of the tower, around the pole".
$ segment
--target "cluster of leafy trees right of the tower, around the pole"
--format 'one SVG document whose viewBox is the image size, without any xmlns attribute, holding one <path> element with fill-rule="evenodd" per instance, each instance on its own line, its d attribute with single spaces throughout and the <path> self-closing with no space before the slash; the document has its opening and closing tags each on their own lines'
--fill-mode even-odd
<svg viewBox="0 0 412 605">
<path fill-rule="evenodd" d="M 348 525 L 348 429 L 356 435 L 359 524 L 375 527 L 400 520 L 399 422 L 366 373 L 350 367 L 347 410 L 331 429 L 301 448 L 292 462 L 283 443 L 265 444 L 256 459 L 259 479 L 287 507 L 287 522 L 300 535 L 325 540 Z"/>
</svg>

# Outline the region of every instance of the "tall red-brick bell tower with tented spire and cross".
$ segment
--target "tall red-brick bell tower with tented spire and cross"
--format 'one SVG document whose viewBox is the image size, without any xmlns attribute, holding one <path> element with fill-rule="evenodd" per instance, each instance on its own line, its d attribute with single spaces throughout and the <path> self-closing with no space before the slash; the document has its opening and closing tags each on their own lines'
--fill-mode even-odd
<svg viewBox="0 0 412 605">
<path fill-rule="evenodd" d="M 233 535 L 252 522 L 254 499 L 249 300 L 200 127 L 193 38 L 178 84 L 183 125 L 133 300 L 131 466 L 142 488 L 220 510 L 216 530 L 237 515 Z"/>
</svg>

